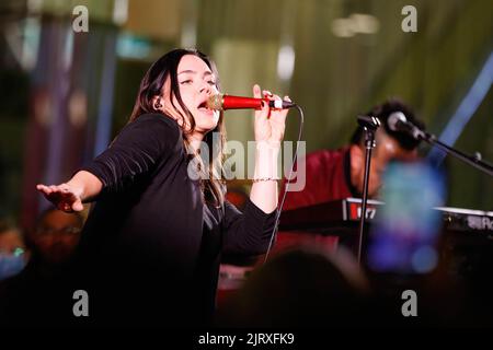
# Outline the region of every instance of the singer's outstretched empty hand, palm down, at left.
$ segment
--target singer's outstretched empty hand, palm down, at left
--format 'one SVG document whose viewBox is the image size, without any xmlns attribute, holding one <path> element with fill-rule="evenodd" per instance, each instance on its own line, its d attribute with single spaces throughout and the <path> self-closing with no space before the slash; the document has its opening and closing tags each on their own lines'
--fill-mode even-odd
<svg viewBox="0 0 493 350">
<path fill-rule="evenodd" d="M 73 212 L 81 211 L 84 209 L 82 205 L 82 190 L 72 188 L 68 184 L 61 185 L 37 185 L 36 189 L 41 191 L 46 199 L 57 207 L 57 209 Z"/>
</svg>

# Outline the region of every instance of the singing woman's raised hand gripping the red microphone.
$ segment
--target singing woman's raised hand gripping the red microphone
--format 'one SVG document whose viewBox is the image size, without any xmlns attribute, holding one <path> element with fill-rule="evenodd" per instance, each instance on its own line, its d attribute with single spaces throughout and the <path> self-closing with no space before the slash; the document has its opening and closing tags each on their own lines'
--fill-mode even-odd
<svg viewBox="0 0 493 350">
<path fill-rule="evenodd" d="M 273 95 L 268 91 L 264 91 L 262 96 L 261 88 L 257 84 L 253 85 L 253 96 L 268 101 L 280 100 L 279 96 Z M 287 96 L 284 100 L 290 102 Z M 267 141 L 271 144 L 279 143 L 284 138 L 287 113 L 288 109 L 274 109 L 267 103 L 262 104 L 262 109 L 255 110 L 255 141 Z"/>
</svg>

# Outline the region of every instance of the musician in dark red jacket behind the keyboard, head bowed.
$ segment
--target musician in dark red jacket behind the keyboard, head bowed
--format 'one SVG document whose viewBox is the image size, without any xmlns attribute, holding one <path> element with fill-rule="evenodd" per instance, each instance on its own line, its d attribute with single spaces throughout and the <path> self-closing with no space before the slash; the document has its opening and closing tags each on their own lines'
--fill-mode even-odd
<svg viewBox="0 0 493 350">
<path fill-rule="evenodd" d="M 424 127 L 412 109 L 397 98 L 375 106 L 367 115 L 377 117 L 381 127 L 376 132 L 376 148 L 371 154 L 368 183 L 368 198 L 377 198 L 382 186 L 381 176 L 392 161 L 417 160 L 417 140 L 410 135 L 389 129 L 388 117 L 393 112 L 402 112 L 406 119 L 417 127 Z M 347 197 L 363 197 L 365 177 L 365 133 L 362 127 L 354 131 L 351 144 L 337 150 L 319 150 L 307 154 L 298 163 L 306 168 L 306 185 L 301 191 L 286 196 L 283 210 L 318 205 Z M 285 184 L 283 184 L 282 195 Z"/>
</svg>

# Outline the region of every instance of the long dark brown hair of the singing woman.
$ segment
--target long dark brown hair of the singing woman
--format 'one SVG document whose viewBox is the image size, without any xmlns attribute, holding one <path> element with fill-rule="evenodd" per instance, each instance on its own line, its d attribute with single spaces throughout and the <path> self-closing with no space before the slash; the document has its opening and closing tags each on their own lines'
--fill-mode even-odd
<svg viewBox="0 0 493 350">
<path fill-rule="evenodd" d="M 171 81 L 170 96 L 169 101 L 173 105 L 174 109 L 179 113 L 179 117 L 181 118 L 182 131 L 183 131 L 183 147 L 188 153 L 193 153 L 193 159 L 198 161 L 198 171 L 200 174 L 200 185 L 204 192 L 204 198 L 208 202 L 213 203 L 216 207 L 222 206 L 225 201 L 225 186 L 222 184 L 221 177 L 223 174 L 222 163 L 223 163 L 223 154 L 226 147 L 226 128 L 223 125 L 223 115 L 220 113 L 218 124 L 216 128 L 206 133 L 204 137 L 204 141 L 207 143 L 209 154 L 208 154 L 208 166 L 204 166 L 204 162 L 202 159 L 202 154 L 198 154 L 195 151 L 192 151 L 190 147 L 188 137 L 193 133 L 195 129 L 195 119 L 192 113 L 183 103 L 182 96 L 180 94 L 180 86 L 177 81 L 177 66 L 180 60 L 185 55 L 193 55 L 200 58 L 213 71 L 213 73 L 217 77 L 216 85 L 217 89 L 220 90 L 219 86 L 219 75 L 216 69 L 216 65 L 213 60 L 210 60 L 205 54 L 196 50 L 196 49 L 183 49 L 177 48 L 169 51 L 161 58 L 159 58 L 149 70 L 146 72 L 142 81 L 140 82 L 139 93 L 137 95 L 137 100 L 134 105 L 134 110 L 131 112 L 130 118 L 128 122 L 134 121 L 140 115 L 147 113 L 159 113 L 163 114 L 161 110 L 154 108 L 152 98 L 154 96 L 161 96 L 163 92 L 164 82 L 168 78 Z M 182 107 L 182 110 L 185 113 L 184 116 L 174 105 L 172 96 L 176 98 L 177 103 Z M 163 114 L 167 118 L 170 116 Z M 187 125 L 185 122 L 187 120 L 190 122 L 190 128 L 185 128 Z M 214 137 L 217 135 L 219 137 Z"/>
</svg>

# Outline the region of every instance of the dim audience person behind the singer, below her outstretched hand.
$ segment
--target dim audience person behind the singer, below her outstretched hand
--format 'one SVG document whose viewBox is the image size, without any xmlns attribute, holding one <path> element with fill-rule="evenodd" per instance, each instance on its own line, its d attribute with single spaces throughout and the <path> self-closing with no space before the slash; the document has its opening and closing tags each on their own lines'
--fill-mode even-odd
<svg viewBox="0 0 493 350">
<path fill-rule="evenodd" d="M 1 322 L 8 326 L 68 326 L 72 315 L 70 258 L 83 225 L 80 213 L 45 210 L 28 236 L 32 257 L 0 287 Z M 70 292 L 71 291 L 71 292 Z"/>
</svg>

